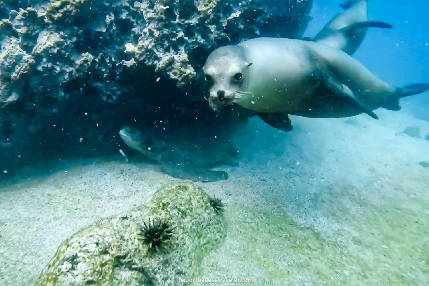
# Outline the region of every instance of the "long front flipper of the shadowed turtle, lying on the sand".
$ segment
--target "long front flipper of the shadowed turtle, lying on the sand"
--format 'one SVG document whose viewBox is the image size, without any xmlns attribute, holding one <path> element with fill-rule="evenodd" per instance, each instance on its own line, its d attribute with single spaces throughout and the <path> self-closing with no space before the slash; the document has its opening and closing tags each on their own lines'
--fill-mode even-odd
<svg viewBox="0 0 429 286">
<path fill-rule="evenodd" d="M 225 171 L 211 171 L 192 167 L 188 165 L 178 164 L 162 164 L 160 169 L 165 174 L 184 180 L 191 180 L 194 182 L 215 182 L 228 179 L 228 173 Z"/>
</svg>

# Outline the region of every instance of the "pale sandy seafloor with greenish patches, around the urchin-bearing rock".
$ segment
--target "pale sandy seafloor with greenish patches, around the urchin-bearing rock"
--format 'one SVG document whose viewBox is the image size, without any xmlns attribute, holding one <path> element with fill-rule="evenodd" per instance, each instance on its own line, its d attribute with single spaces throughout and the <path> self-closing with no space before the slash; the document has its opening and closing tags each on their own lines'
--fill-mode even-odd
<svg viewBox="0 0 429 286">
<path fill-rule="evenodd" d="M 228 224 L 203 278 L 429 285 L 429 167 L 419 164 L 429 161 L 429 122 L 376 113 L 380 120 L 291 117 L 288 133 L 251 118 L 237 131 L 239 166 L 218 168 L 230 179 L 197 183 L 226 204 Z M 403 134 L 407 126 L 423 138 Z M 31 285 L 67 237 L 144 204 L 171 180 L 118 155 L 2 181 L 0 285 Z"/>
</svg>

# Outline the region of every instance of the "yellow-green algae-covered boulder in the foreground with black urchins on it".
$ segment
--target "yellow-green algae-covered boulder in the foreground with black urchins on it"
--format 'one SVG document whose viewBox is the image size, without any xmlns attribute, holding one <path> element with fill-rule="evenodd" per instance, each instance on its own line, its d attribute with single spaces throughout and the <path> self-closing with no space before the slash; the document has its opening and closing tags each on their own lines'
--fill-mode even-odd
<svg viewBox="0 0 429 286">
<path fill-rule="evenodd" d="M 148 228 L 156 236 L 157 226 L 164 240 L 148 243 Z M 201 188 L 168 184 L 146 204 L 64 241 L 35 286 L 180 285 L 176 278 L 199 275 L 202 258 L 224 236 L 223 217 Z"/>
</svg>

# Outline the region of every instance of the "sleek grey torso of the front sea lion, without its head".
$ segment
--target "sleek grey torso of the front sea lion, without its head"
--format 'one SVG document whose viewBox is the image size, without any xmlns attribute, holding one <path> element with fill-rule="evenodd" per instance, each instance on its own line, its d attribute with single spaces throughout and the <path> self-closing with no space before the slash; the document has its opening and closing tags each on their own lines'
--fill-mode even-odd
<svg viewBox="0 0 429 286">
<path fill-rule="evenodd" d="M 283 111 L 306 117 L 348 117 L 362 113 L 351 103 L 342 104 L 344 108 L 337 107 L 335 111 L 329 104 L 326 105 L 327 102 L 319 104 L 321 98 L 317 91 L 323 88 L 326 77 L 335 77 L 335 80 L 347 83 L 371 110 L 381 107 L 386 97 L 395 95 L 394 87 L 373 75 L 353 57 L 324 44 L 257 38 L 242 42 L 239 46 L 244 49 L 246 59 L 253 63 L 249 67 L 250 78 L 259 77 L 257 81 L 249 81 L 245 90 L 254 96 L 243 96 L 239 101 L 239 105 L 250 110 L 269 113 Z M 256 66 L 264 72 L 261 74 Z M 271 88 L 267 89 L 266 83 L 270 83 Z"/>
</svg>

